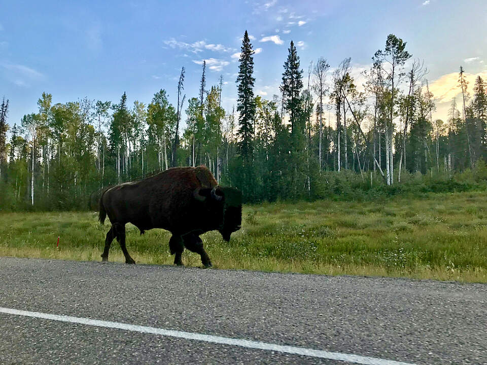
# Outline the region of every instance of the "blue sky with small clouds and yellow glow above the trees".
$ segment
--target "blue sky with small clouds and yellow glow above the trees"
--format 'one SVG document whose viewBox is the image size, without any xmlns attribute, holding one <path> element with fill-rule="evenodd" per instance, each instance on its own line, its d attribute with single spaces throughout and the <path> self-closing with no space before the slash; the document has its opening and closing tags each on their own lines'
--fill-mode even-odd
<svg viewBox="0 0 487 365">
<path fill-rule="evenodd" d="M 231 112 L 245 30 L 256 50 L 255 94 L 264 98 L 279 93 L 291 40 L 305 85 L 308 65 L 318 57 L 331 67 L 351 57 L 360 84 L 360 72 L 394 33 L 428 69 L 434 119 L 447 119 L 460 92 L 460 65 L 471 94 L 476 76 L 487 79 L 485 0 L 0 0 L 0 8 L 0 97 L 9 99 L 10 125 L 37 112 L 43 92 L 53 103 L 84 97 L 118 103 L 126 92 L 132 105 L 148 104 L 164 89 L 176 105 L 181 67 L 184 93 L 196 97 L 203 59 L 206 89 L 223 75 L 222 106 Z"/>
</svg>

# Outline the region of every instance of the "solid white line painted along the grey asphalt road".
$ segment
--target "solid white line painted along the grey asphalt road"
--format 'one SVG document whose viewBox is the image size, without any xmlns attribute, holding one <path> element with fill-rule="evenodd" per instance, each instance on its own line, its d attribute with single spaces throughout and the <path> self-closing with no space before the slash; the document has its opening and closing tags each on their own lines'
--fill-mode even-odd
<svg viewBox="0 0 487 365">
<path fill-rule="evenodd" d="M 61 321 L 61 322 L 80 323 L 80 324 L 93 325 L 97 327 L 108 327 L 108 328 L 125 330 L 125 331 L 142 332 L 142 333 L 148 333 L 154 335 L 183 338 L 187 340 L 196 340 L 196 341 L 204 341 L 204 342 L 218 343 L 224 345 L 247 347 L 252 349 L 279 351 L 279 352 L 286 352 L 286 353 L 296 354 L 296 355 L 320 357 L 320 358 L 325 358 L 330 360 L 346 361 L 346 362 L 359 363 L 364 365 L 415 365 L 409 362 L 385 360 L 385 359 L 380 359 L 375 357 L 359 356 L 359 355 L 346 354 L 340 352 L 314 350 L 314 349 L 308 349 L 304 347 L 283 346 L 283 345 L 270 344 L 270 343 L 260 342 L 260 341 L 248 341 L 248 340 L 234 339 L 230 337 L 203 335 L 203 334 L 192 333 L 192 332 L 164 330 L 155 327 L 140 326 L 140 325 L 134 325 L 128 323 L 110 322 L 110 321 L 103 321 L 97 319 L 71 317 L 71 316 L 64 316 L 64 315 L 57 315 L 57 314 L 29 312 L 29 311 L 23 311 L 23 310 L 11 309 L 11 308 L 0 307 L 0 313 L 42 318 L 42 319 L 50 319 L 50 320 Z"/>
</svg>

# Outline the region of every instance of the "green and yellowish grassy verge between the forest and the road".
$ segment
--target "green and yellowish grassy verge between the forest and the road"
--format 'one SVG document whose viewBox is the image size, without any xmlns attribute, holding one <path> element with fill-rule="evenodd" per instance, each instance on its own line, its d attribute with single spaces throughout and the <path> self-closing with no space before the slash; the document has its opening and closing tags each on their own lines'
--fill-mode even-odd
<svg viewBox="0 0 487 365">
<path fill-rule="evenodd" d="M 96 218 L 0 213 L 0 255 L 100 261 L 109 226 Z M 229 243 L 202 236 L 215 268 L 487 282 L 486 192 L 250 205 L 242 226 Z M 169 236 L 128 225 L 127 248 L 137 263 L 172 264 Z M 116 241 L 109 260 L 124 262 Z M 183 261 L 201 265 L 187 250 Z"/>
</svg>

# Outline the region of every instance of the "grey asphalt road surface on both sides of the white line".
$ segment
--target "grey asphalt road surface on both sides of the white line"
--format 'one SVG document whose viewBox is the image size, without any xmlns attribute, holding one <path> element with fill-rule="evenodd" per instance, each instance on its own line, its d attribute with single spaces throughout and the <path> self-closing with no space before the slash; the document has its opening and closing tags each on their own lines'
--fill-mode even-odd
<svg viewBox="0 0 487 365">
<path fill-rule="evenodd" d="M 0 258 L 0 307 L 414 364 L 487 364 L 487 285 Z M 0 364 L 345 364 L 0 313 Z"/>
</svg>

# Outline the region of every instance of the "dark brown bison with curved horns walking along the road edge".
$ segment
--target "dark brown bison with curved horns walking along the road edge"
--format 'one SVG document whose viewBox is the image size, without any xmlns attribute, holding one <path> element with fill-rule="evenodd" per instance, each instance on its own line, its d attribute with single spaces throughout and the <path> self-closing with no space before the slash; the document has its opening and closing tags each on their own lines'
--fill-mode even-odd
<svg viewBox="0 0 487 365">
<path fill-rule="evenodd" d="M 108 215 L 112 227 L 107 233 L 102 261 L 108 261 L 114 238 L 120 243 L 125 262 L 134 264 L 125 246 L 125 224 L 136 226 L 141 234 L 153 228 L 172 233 L 169 239 L 174 263 L 183 265 L 184 247 L 201 256 L 204 267 L 212 266 L 199 237 L 218 230 L 226 241 L 240 229 L 241 193 L 222 188 L 204 166 L 174 167 L 140 181 L 107 189 L 99 201 L 99 221 Z"/>
</svg>

